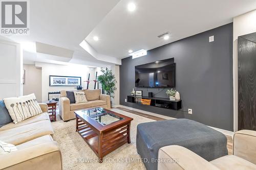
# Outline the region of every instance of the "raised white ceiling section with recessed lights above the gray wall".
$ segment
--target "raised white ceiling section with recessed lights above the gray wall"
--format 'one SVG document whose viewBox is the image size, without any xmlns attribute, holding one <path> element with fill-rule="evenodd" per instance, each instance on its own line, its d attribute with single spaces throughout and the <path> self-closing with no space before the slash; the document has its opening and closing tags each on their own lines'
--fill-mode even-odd
<svg viewBox="0 0 256 170">
<path fill-rule="evenodd" d="M 134 2 L 136 10 L 127 11 Z M 132 49 L 152 48 L 232 22 L 256 9 L 255 0 L 121 0 L 86 37 L 98 53 L 128 57 Z M 169 32 L 169 40 L 157 36 Z M 99 41 L 93 37 L 98 36 Z"/>
</svg>

